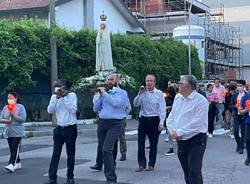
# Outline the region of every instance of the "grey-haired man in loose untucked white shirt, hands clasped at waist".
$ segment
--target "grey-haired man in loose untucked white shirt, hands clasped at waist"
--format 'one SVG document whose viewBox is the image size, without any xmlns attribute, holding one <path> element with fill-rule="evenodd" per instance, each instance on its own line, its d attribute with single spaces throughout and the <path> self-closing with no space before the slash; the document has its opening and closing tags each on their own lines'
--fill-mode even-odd
<svg viewBox="0 0 250 184">
<path fill-rule="evenodd" d="M 177 140 L 178 158 L 186 184 L 202 184 L 202 160 L 207 143 L 208 101 L 196 92 L 197 80 L 184 75 L 179 83 L 172 111 L 166 120 L 173 139 Z"/>
</svg>

